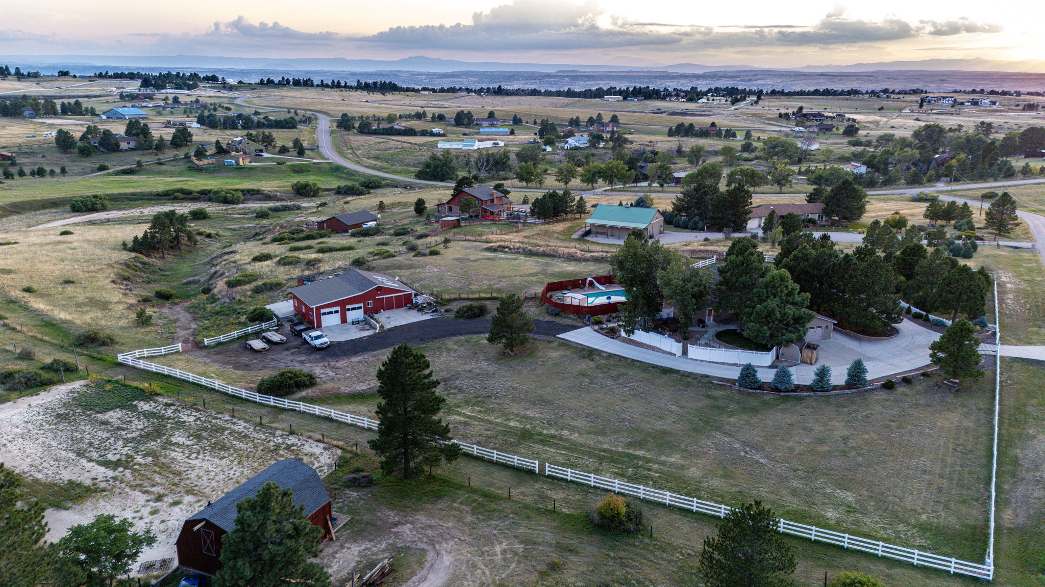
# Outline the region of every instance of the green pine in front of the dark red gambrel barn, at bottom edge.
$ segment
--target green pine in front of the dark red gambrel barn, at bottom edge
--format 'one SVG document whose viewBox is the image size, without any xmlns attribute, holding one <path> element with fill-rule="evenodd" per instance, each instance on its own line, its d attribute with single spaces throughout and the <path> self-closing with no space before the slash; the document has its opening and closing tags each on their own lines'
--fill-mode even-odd
<svg viewBox="0 0 1045 587">
<path fill-rule="evenodd" d="M 309 559 L 320 554 L 322 531 L 294 503 L 294 491 L 274 483 L 236 503 L 236 527 L 223 540 L 223 587 L 328 587 L 330 577 Z"/>
</svg>

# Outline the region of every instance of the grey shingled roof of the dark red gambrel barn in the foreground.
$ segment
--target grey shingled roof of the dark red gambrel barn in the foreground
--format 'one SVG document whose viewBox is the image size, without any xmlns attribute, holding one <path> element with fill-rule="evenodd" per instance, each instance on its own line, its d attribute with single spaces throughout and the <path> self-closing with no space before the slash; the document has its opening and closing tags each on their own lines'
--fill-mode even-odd
<svg viewBox="0 0 1045 587">
<path fill-rule="evenodd" d="M 300 506 L 305 516 L 322 508 L 330 496 L 323 487 L 316 469 L 297 459 L 284 459 L 243 482 L 242 485 L 226 493 L 217 501 L 201 510 L 189 520 L 209 520 L 226 532 L 236 529 L 236 503 L 247 497 L 254 497 L 261 486 L 272 482 L 294 492 L 294 504 Z"/>
</svg>

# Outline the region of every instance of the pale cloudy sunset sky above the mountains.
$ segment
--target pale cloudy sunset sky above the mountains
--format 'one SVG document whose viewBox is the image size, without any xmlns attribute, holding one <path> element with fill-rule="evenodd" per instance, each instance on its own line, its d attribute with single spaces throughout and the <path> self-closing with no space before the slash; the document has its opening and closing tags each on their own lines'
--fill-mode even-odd
<svg viewBox="0 0 1045 587">
<path fill-rule="evenodd" d="M 5 2 L 0 54 L 412 55 L 585 65 L 796 67 L 1045 55 L 1045 5 L 982 0 L 126 0 Z M 300 6 L 296 9 L 295 6 Z"/>
</svg>

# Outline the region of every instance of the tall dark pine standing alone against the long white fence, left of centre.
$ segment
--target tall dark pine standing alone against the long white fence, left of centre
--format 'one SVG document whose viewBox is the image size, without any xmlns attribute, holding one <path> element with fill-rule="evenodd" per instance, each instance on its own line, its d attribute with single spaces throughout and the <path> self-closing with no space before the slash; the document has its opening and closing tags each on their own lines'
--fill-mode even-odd
<svg viewBox="0 0 1045 587">
<path fill-rule="evenodd" d="M 450 463 L 461 447 L 450 442 L 449 426 L 437 415 L 446 398 L 436 393 L 439 380 L 432 378 L 423 354 L 402 344 L 392 350 L 377 370 L 377 438 L 370 448 L 381 457 L 386 474 L 410 478 L 425 466 Z"/>
</svg>

